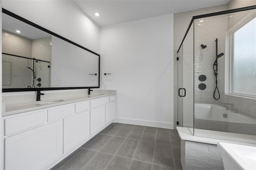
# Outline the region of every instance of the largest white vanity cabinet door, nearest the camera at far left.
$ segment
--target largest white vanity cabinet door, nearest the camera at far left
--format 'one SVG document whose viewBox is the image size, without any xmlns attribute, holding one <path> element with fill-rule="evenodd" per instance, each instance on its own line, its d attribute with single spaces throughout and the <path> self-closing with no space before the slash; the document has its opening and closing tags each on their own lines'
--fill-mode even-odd
<svg viewBox="0 0 256 170">
<path fill-rule="evenodd" d="M 55 121 L 4 139 L 5 169 L 45 169 L 62 155 L 62 123 Z"/>
</svg>

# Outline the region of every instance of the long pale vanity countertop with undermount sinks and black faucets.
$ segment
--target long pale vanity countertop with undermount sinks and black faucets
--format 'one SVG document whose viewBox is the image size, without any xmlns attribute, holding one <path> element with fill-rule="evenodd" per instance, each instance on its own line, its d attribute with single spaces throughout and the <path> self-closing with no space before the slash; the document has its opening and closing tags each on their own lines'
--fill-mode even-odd
<svg viewBox="0 0 256 170">
<path fill-rule="evenodd" d="M 71 97 L 71 98 L 54 98 L 52 100 L 63 100 L 60 102 L 52 102 L 52 103 L 47 103 L 52 100 L 41 100 L 41 101 L 33 101 L 33 102 L 20 102 L 20 103 L 14 103 L 14 104 L 6 104 L 5 105 L 5 111 L 2 111 L 2 116 L 7 116 L 7 115 L 13 115 L 17 113 L 22 113 L 26 111 L 33 111 L 33 110 L 38 110 L 38 109 L 44 109 L 47 107 L 54 107 L 54 106 L 60 106 L 64 104 L 71 104 L 74 102 L 81 102 L 85 100 L 92 100 L 96 98 L 102 98 L 105 96 L 112 96 L 116 94 L 115 90 L 111 90 L 112 92 L 108 92 L 106 94 L 101 93 L 101 94 L 91 94 L 91 95 L 84 95 L 84 96 L 78 96 L 78 97 Z M 42 103 L 44 102 L 44 103 Z M 42 104 L 39 104 L 42 103 Z"/>
</svg>

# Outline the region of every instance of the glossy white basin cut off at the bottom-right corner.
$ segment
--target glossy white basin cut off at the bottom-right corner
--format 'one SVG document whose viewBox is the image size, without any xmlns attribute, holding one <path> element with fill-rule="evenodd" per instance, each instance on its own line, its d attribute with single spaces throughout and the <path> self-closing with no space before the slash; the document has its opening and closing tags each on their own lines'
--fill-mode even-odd
<svg viewBox="0 0 256 170">
<path fill-rule="evenodd" d="M 256 145 L 218 143 L 225 170 L 256 170 Z"/>
</svg>

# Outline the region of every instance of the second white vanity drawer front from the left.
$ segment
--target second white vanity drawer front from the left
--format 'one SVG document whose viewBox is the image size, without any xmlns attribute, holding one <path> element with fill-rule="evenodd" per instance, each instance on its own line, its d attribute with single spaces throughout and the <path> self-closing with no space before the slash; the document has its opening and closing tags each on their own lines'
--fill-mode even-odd
<svg viewBox="0 0 256 170">
<path fill-rule="evenodd" d="M 74 114 L 74 104 L 68 106 L 61 106 L 53 109 L 47 110 L 48 119 L 47 121 L 52 121 L 55 119 L 59 119 L 61 117 L 65 117 L 68 115 Z"/>
</svg>

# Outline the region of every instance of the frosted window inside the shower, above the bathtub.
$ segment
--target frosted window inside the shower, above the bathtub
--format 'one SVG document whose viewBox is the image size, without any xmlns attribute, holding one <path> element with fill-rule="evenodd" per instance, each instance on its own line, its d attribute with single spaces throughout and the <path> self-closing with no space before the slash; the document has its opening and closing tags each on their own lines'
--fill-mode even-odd
<svg viewBox="0 0 256 170">
<path fill-rule="evenodd" d="M 230 93 L 256 96 L 256 18 L 233 33 Z"/>
</svg>

